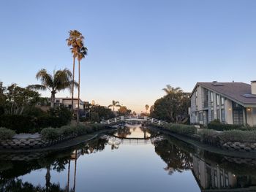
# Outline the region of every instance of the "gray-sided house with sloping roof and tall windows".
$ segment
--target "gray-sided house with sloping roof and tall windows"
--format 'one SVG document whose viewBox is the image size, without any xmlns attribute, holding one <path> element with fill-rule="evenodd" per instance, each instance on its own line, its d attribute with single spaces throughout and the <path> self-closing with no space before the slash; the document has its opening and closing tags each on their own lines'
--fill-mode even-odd
<svg viewBox="0 0 256 192">
<path fill-rule="evenodd" d="M 190 96 L 190 123 L 222 123 L 256 126 L 256 81 L 197 82 Z"/>
</svg>

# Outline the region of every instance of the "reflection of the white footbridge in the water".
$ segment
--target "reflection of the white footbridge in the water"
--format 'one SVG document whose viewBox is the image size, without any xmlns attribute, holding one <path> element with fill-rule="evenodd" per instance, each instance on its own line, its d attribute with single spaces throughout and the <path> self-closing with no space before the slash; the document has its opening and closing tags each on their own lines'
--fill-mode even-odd
<svg viewBox="0 0 256 192">
<path fill-rule="evenodd" d="M 165 140 L 164 135 L 157 135 L 153 137 L 147 137 L 147 138 L 136 138 L 136 137 L 118 137 L 115 135 L 108 135 L 104 134 L 100 137 L 101 139 L 108 140 L 108 142 L 111 142 L 112 144 L 121 145 L 121 144 L 131 144 L 131 145 L 146 145 L 146 144 L 154 144 L 156 142 L 161 142 Z"/>
</svg>

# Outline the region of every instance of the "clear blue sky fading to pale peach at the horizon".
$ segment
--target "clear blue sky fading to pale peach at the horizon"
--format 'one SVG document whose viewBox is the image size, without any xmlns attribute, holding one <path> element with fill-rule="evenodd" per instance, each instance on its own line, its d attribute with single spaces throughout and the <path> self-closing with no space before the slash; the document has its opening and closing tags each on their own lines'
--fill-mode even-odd
<svg viewBox="0 0 256 192">
<path fill-rule="evenodd" d="M 192 91 L 198 81 L 249 83 L 255 9 L 254 0 L 1 1 L 0 80 L 26 86 L 37 83 L 39 69 L 72 69 L 65 39 L 78 29 L 89 49 L 85 101 L 115 99 L 140 112 L 167 84 Z"/>
</svg>

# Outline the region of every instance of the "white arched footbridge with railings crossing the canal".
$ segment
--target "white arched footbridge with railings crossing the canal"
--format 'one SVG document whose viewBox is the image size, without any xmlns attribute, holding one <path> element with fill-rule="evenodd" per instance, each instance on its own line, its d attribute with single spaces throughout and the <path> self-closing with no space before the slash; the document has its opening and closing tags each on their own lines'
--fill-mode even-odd
<svg viewBox="0 0 256 192">
<path fill-rule="evenodd" d="M 108 120 L 102 120 L 100 123 L 105 124 L 105 125 L 110 125 L 110 124 L 118 123 L 118 122 L 122 122 L 122 121 L 139 121 L 139 122 L 146 121 L 149 123 L 157 124 L 159 126 L 163 126 L 164 124 L 167 123 L 163 120 L 150 118 L 148 116 L 143 116 L 143 117 L 141 117 L 141 116 L 119 116 L 119 117 L 108 119 Z"/>
</svg>

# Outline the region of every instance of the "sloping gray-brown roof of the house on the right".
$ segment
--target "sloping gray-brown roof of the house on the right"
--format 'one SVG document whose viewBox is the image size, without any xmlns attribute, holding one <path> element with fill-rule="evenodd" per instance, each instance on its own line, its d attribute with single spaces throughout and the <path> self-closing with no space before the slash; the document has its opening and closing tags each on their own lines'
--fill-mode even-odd
<svg viewBox="0 0 256 192">
<path fill-rule="evenodd" d="M 256 104 L 256 96 L 252 95 L 251 85 L 244 82 L 197 82 L 197 85 L 226 96 L 243 106 Z"/>
</svg>

